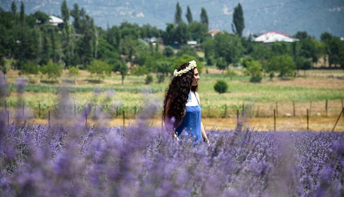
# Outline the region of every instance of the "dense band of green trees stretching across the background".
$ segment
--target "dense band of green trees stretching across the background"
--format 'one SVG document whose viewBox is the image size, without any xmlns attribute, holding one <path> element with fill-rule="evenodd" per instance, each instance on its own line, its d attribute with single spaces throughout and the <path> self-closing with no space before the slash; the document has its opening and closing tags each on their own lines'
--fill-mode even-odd
<svg viewBox="0 0 344 197">
<path fill-rule="evenodd" d="M 208 33 L 205 8 L 201 8 L 197 21 L 189 6 L 183 15 L 179 2 L 173 23 L 168 23 L 165 30 L 128 22 L 103 29 L 77 3 L 68 8 L 66 0 L 60 14 L 64 23 L 52 26 L 44 12 L 26 15 L 23 1 L 19 12 L 14 1 L 10 11 L 0 9 L 0 69 L 4 74 L 9 69 L 5 59 L 13 59 L 10 69 L 20 70 L 23 75 L 42 73 L 56 79 L 62 69 L 69 69 L 74 77 L 79 69 L 85 69 L 99 80 L 112 72 L 119 73 L 122 83 L 129 70 L 133 75 L 158 73 L 162 82 L 190 59 L 198 62 L 199 70 L 203 62 L 227 70 L 229 76 L 233 74 L 229 65 L 242 65 L 244 73 L 251 75 L 251 82 L 260 82 L 262 73 L 294 77 L 298 70 L 311 69 L 321 58 L 329 67 L 344 68 L 344 42 L 328 32 L 317 40 L 306 31 L 298 31 L 293 37 L 299 42 L 275 42 L 268 46 L 252 41 L 251 36 L 243 37 L 245 24 L 240 3 L 232 15 L 233 32 L 221 31 L 213 36 Z M 199 47 L 189 46 L 190 40 L 197 41 Z M 198 51 L 204 52 L 204 57 Z"/>
</svg>

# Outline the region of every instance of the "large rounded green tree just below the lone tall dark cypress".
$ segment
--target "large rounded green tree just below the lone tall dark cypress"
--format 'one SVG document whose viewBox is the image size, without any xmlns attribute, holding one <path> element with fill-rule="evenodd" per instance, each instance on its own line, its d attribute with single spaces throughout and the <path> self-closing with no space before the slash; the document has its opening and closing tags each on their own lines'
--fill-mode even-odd
<svg viewBox="0 0 344 197">
<path fill-rule="evenodd" d="M 223 57 L 230 63 L 237 63 L 244 54 L 244 47 L 238 36 L 231 36 L 227 32 L 220 32 L 215 35 L 215 57 Z"/>
</svg>

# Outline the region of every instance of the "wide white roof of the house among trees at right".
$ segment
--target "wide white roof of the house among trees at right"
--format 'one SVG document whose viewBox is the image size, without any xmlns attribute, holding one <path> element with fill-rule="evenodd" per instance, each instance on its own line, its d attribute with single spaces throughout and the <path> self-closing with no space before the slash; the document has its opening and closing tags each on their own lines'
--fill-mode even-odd
<svg viewBox="0 0 344 197">
<path fill-rule="evenodd" d="M 251 36 L 252 40 L 255 42 L 262 42 L 264 44 L 269 44 L 273 42 L 295 42 L 299 41 L 299 39 L 292 38 L 284 33 L 279 33 L 277 31 L 269 31 L 258 37 Z"/>
</svg>

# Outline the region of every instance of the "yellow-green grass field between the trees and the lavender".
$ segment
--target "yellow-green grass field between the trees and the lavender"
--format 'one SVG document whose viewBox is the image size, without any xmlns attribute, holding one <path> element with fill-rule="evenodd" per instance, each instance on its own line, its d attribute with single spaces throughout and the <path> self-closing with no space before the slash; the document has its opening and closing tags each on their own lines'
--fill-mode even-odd
<svg viewBox="0 0 344 197">
<path fill-rule="evenodd" d="M 205 69 L 208 70 L 208 74 L 205 74 Z M 257 113 L 260 116 L 271 116 L 275 108 L 278 108 L 281 115 L 292 113 L 292 102 L 295 103 L 299 112 L 296 115 L 299 116 L 306 114 L 306 108 L 312 108 L 314 114 L 323 116 L 326 100 L 328 100 L 328 116 L 337 116 L 342 109 L 343 70 L 312 70 L 308 71 L 307 77 L 290 80 L 275 77 L 271 81 L 265 77 L 261 83 L 254 84 L 249 82 L 249 76 L 241 75 L 241 70 L 238 68 L 235 68 L 235 72 L 239 75 L 232 79 L 224 77 L 222 71 L 215 67 L 205 69 L 199 83 L 204 118 L 234 115 L 236 110 L 242 110 L 243 104 L 245 112 L 251 116 Z M 114 110 L 119 106 L 120 112 L 128 111 L 126 113 L 128 117 L 139 112 L 148 102 L 153 102 L 161 108 L 164 91 L 171 80 L 170 77 L 166 77 L 164 83 L 158 84 L 157 77 L 153 74 L 153 83 L 144 84 L 145 76 L 129 75 L 122 85 L 120 75 L 112 74 L 101 82 L 94 83 L 96 77 L 82 71 L 76 79 L 77 84 L 74 84 L 70 83 L 70 77 L 64 72 L 57 83 L 47 83 L 47 79 L 41 76 L 24 76 L 30 83 L 26 85 L 24 93 L 18 93 L 16 87 L 18 77 L 17 71 L 9 71 L 7 74 L 9 92 L 4 99 L 8 108 L 15 108 L 20 101 L 33 111 L 54 110 L 58 108 L 62 98 L 63 91 L 60 89 L 65 87 L 68 94 L 63 94 L 63 102 L 75 105 L 78 112 L 81 112 L 87 103 L 92 103 L 103 110 Z M 214 91 L 213 86 L 220 79 L 228 83 L 227 93 L 219 94 Z M 312 106 L 310 102 L 313 103 Z M 3 100 L 1 106 L 4 106 Z"/>
</svg>

